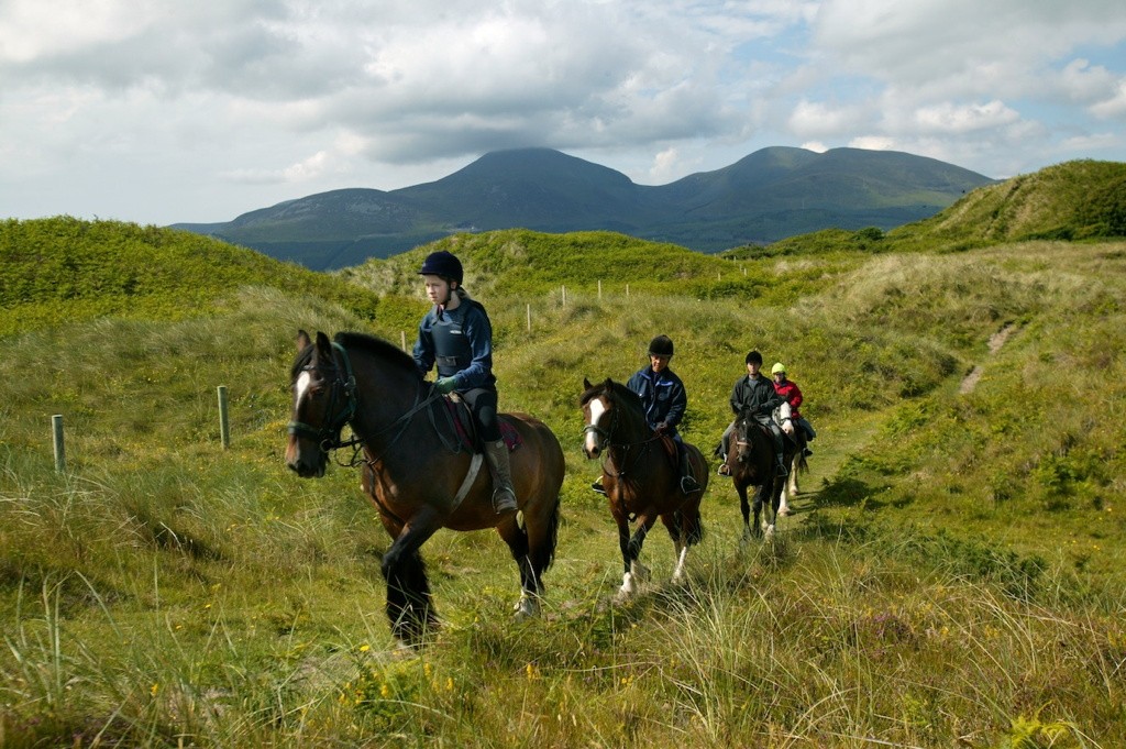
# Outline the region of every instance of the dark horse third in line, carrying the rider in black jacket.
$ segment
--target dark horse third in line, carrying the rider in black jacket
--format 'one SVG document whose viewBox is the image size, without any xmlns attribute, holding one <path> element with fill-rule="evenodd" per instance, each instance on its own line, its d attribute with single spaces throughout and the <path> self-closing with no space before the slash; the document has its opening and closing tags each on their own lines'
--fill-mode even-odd
<svg viewBox="0 0 1126 749">
<path fill-rule="evenodd" d="M 788 410 L 788 405 L 784 405 Z M 743 514 L 743 543 L 752 537 L 774 538 L 775 524 L 778 519 L 778 507 L 787 478 L 779 475 L 778 457 L 774 437 L 754 417 L 742 413 L 735 420 L 735 430 L 731 438 L 734 445 L 730 451 L 729 467 L 731 481 L 739 493 L 739 509 Z M 795 463 L 796 444 L 783 436 L 783 462 L 786 465 Z M 802 458 L 804 463 L 804 457 Z M 747 489 L 754 489 L 753 500 L 748 501 Z M 751 514 L 754 524 L 751 524 Z M 763 517 L 765 516 L 765 517 Z"/>
</svg>

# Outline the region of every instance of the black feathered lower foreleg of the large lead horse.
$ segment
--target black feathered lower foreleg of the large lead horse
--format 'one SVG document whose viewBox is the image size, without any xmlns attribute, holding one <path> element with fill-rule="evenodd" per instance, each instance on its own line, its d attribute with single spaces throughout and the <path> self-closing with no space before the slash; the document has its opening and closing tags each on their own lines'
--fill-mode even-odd
<svg viewBox="0 0 1126 749">
<path fill-rule="evenodd" d="M 403 644 L 417 647 L 426 631 L 438 625 L 430 598 L 430 581 L 419 549 L 437 530 L 436 525 L 404 526 L 387 553 L 379 571 L 387 583 L 387 618 L 391 632 Z"/>
</svg>

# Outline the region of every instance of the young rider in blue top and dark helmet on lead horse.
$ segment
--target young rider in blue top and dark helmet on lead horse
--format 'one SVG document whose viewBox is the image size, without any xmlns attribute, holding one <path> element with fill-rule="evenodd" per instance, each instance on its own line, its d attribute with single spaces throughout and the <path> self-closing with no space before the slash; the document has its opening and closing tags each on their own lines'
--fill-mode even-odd
<svg viewBox="0 0 1126 749">
<path fill-rule="evenodd" d="M 419 275 L 434 303 L 419 323 L 414 365 L 423 377 L 438 365 L 435 389 L 457 391 L 481 425 L 485 457 L 493 474 L 493 509 L 517 509 L 508 446 L 497 421 L 497 377 L 492 373 L 492 324 L 481 304 L 462 288 L 462 262 L 445 250 L 431 252 Z"/>
</svg>

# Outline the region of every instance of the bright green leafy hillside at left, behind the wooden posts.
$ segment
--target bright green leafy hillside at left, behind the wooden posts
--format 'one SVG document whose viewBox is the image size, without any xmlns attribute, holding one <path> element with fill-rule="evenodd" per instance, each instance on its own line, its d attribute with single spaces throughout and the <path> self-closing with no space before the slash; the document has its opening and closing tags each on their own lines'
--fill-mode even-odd
<svg viewBox="0 0 1126 749">
<path fill-rule="evenodd" d="M 0 336 L 102 316 L 213 314 L 241 286 L 331 298 L 360 316 L 378 300 L 300 266 L 184 231 L 69 216 L 0 223 Z"/>
</svg>

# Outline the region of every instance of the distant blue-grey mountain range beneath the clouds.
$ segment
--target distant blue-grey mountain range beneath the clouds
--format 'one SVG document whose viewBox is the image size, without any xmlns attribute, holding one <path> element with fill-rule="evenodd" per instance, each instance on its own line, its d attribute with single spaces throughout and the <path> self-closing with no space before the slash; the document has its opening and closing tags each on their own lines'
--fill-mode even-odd
<svg viewBox="0 0 1126 749">
<path fill-rule="evenodd" d="M 558 151 L 518 149 L 425 185 L 333 190 L 226 223 L 175 226 L 313 269 L 359 265 L 455 232 L 511 228 L 608 230 L 716 252 L 830 226 L 888 230 L 992 181 L 909 153 L 779 146 L 651 187 Z"/>
</svg>

